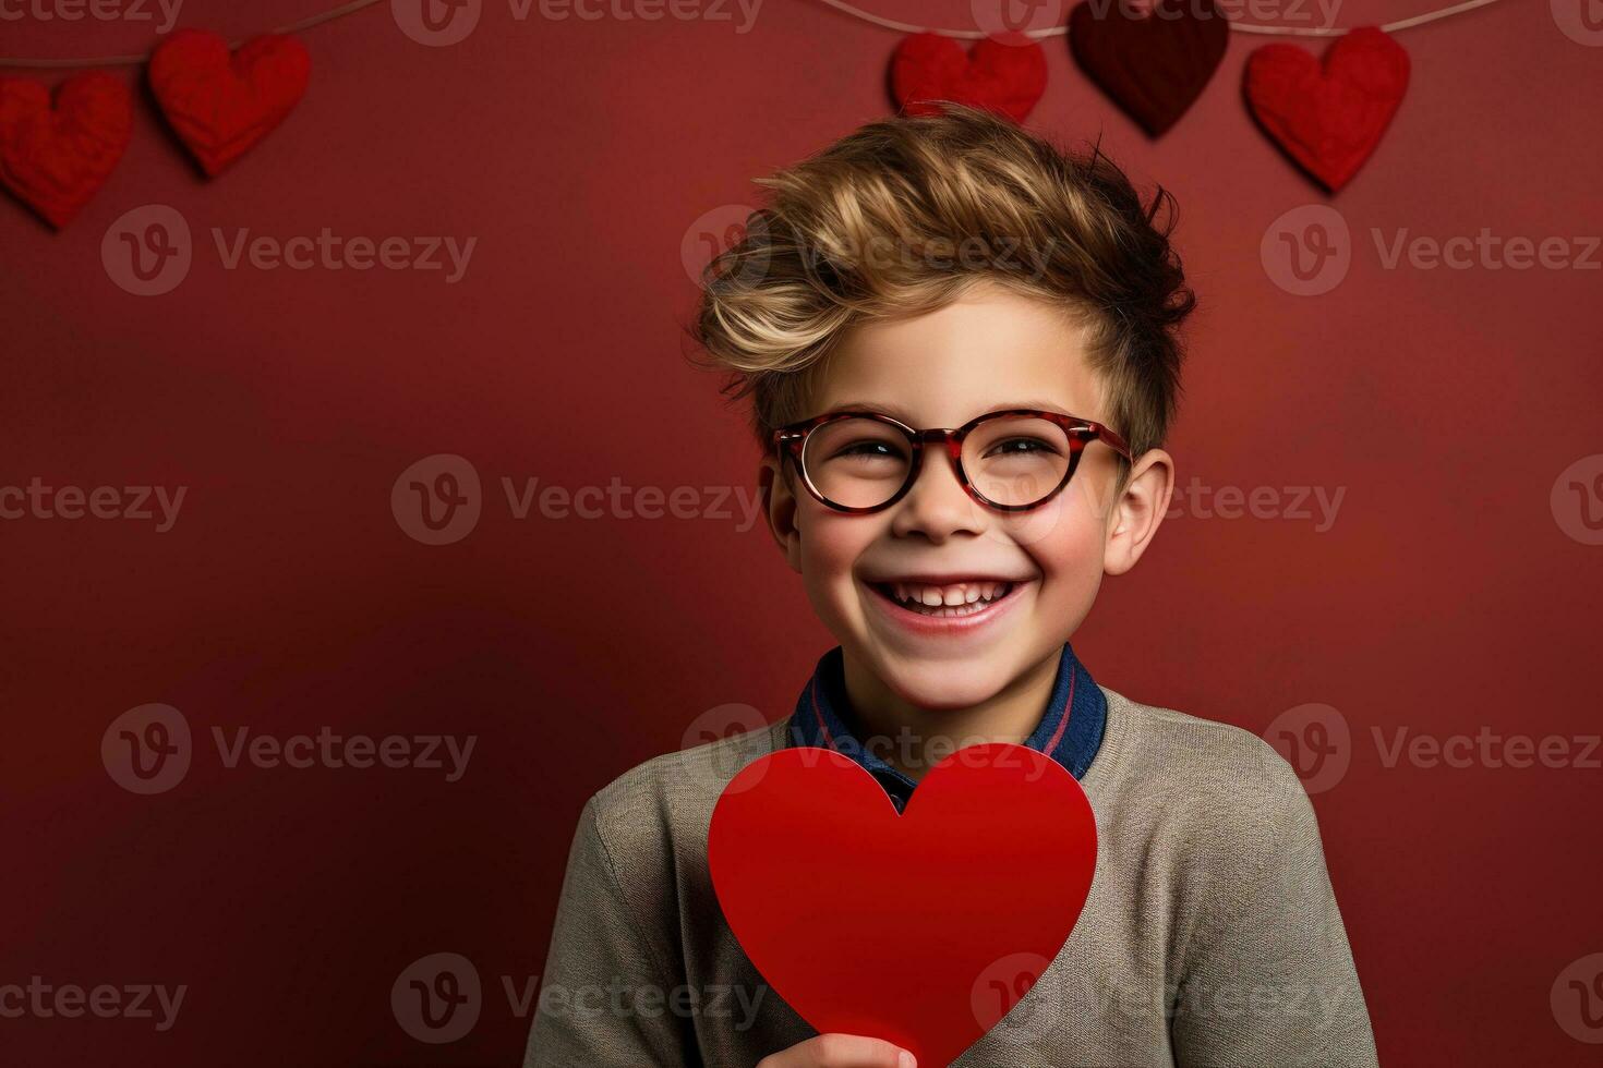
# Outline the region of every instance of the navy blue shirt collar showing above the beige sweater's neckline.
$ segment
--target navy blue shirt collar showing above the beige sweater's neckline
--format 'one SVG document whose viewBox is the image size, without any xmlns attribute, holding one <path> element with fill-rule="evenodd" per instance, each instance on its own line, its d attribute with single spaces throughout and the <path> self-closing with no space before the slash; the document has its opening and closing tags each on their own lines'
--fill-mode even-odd
<svg viewBox="0 0 1603 1068">
<path fill-rule="evenodd" d="M 1080 778 L 1101 748 L 1106 724 L 1108 698 L 1064 642 L 1047 711 L 1024 745 L 1045 753 L 1074 778 Z M 854 761 L 878 780 L 901 812 L 907 807 L 917 783 L 880 759 L 874 749 L 866 748 L 858 740 L 856 727 L 858 719 L 846 698 L 845 658 L 837 645 L 819 658 L 813 677 L 797 700 L 795 716 L 790 717 L 790 745 L 835 749 Z"/>
</svg>

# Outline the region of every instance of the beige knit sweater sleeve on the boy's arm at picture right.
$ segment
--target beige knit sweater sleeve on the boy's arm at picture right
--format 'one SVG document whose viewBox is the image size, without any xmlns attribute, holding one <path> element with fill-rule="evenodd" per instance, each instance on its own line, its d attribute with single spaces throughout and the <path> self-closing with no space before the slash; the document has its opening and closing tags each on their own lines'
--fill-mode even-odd
<svg viewBox="0 0 1603 1068">
<path fill-rule="evenodd" d="M 1178 969 L 1178 1068 L 1375 1068 L 1375 1041 L 1302 781 L 1254 738 L 1215 801 L 1210 877 Z"/>
</svg>

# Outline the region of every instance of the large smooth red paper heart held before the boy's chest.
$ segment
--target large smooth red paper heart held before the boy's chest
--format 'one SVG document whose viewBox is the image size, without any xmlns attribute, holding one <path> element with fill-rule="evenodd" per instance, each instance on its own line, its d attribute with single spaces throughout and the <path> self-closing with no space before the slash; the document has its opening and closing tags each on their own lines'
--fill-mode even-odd
<svg viewBox="0 0 1603 1068">
<path fill-rule="evenodd" d="M 741 948 L 808 1023 L 941 1068 L 1068 942 L 1096 820 L 1074 777 L 1024 746 L 954 753 L 902 815 L 840 753 L 792 748 L 729 781 L 707 863 Z"/>
</svg>

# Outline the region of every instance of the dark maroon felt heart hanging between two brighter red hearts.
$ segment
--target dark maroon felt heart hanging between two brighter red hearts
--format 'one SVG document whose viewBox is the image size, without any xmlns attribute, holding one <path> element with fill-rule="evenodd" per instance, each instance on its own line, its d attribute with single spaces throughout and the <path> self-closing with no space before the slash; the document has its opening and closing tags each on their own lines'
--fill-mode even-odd
<svg viewBox="0 0 1603 1068">
<path fill-rule="evenodd" d="M 1069 14 L 1069 51 L 1146 133 L 1175 125 L 1225 58 L 1230 22 L 1213 0 L 1085 0 Z"/>
</svg>

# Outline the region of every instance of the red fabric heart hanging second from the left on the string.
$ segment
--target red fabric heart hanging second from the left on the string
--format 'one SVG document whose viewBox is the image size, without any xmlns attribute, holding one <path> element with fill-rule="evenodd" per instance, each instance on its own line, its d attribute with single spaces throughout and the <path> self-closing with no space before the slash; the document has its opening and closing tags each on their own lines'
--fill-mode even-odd
<svg viewBox="0 0 1603 1068">
<path fill-rule="evenodd" d="M 180 30 L 151 56 L 151 91 L 207 175 L 218 175 L 284 122 L 311 75 L 293 37 L 245 42 Z"/>
</svg>

